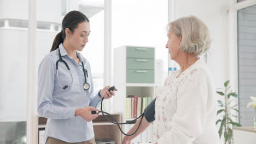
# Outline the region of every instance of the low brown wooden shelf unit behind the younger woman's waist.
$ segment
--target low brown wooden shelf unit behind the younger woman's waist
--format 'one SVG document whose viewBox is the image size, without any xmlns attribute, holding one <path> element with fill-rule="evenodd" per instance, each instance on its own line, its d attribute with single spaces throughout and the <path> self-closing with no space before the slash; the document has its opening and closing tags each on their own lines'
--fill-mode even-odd
<svg viewBox="0 0 256 144">
<path fill-rule="evenodd" d="M 118 122 L 121 122 L 121 113 L 115 112 L 110 114 L 117 119 Z M 112 120 L 109 116 L 106 117 Z M 40 141 L 42 141 L 41 139 L 43 139 L 46 122 L 47 118 L 38 116 L 38 144 L 40 144 Z M 117 144 L 121 143 L 121 132 L 118 129 L 118 126 L 106 121 L 101 113 L 99 113 L 99 116 L 92 121 L 92 124 L 94 125 L 95 140 L 110 139 L 114 140 Z"/>
</svg>

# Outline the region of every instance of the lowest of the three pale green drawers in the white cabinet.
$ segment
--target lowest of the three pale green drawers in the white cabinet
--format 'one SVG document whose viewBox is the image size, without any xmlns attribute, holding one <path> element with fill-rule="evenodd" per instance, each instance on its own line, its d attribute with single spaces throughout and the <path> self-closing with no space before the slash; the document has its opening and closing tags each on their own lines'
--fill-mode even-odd
<svg viewBox="0 0 256 144">
<path fill-rule="evenodd" d="M 126 83 L 154 83 L 154 70 L 126 70 Z"/>
</svg>

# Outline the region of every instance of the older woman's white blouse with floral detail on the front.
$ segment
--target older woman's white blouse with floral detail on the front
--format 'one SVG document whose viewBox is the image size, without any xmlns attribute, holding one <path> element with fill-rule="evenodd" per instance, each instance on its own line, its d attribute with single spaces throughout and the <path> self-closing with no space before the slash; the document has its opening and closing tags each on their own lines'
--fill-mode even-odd
<svg viewBox="0 0 256 144">
<path fill-rule="evenodd" d="M 208 66 L 197 60 L 156 90 L 154 136 L 158 144 L 219 142 L 215 125 L 217 96 Z"/>
</svg>

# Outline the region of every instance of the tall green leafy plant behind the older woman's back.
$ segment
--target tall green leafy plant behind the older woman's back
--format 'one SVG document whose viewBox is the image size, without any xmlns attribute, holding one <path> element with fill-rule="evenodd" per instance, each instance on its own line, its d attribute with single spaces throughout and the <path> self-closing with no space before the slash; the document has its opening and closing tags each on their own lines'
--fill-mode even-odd
<svg viewBox="0 0 256 144">
<path fill-rule="evenodd" d="M 232 111 L 239 112 L 237 109 L 235 109 L 235 106 L 238 104 L 232 104 L 231 102 L 238 98 L 238 94 L 236 92 L 232 92 L 231 86 L 229 86 L 229 80 L 224 82 L 224 91 L 220 92 L 217 91 L 219 95 L 222 95 L 224 97 L 224 101 L 218 100 L 219 106 L 222 107 L 222 109 L 218 110 L 217 116 L 220 117 L 216 121 L 216 125 L 220 122 L 219 127 L 219 137 L 222 137 L 222 134 L 224 135 L 225 143 L 228 142 L 231 144 L 232 142 L 232 127 L 238 126 L 241 127 L 242 125 L 236 122 L 233 122 L 231 118 L 236 118 Z M 232 98 L 233 97 L 233 98 Z"/>
</svg>

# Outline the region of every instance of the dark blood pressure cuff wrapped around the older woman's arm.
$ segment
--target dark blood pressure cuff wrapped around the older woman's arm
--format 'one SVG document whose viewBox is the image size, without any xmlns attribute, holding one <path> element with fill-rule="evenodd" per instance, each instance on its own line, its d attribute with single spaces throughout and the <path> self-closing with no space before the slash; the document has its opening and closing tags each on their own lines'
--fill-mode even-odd
<svg viewBox="0 0 256 144">
<path fill-rule="evenodd" d="M 144 117 L 149 123 L 155 121 L 155 99 L 144 110 Z"/>
</svg>

